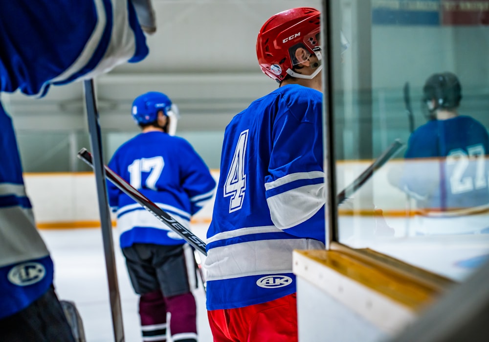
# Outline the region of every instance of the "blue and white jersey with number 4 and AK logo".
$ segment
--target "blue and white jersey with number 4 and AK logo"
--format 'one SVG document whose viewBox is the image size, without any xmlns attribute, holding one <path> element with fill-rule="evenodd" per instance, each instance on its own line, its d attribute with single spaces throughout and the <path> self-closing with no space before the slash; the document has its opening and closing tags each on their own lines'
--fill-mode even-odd
<svg viewBox="0 0 489 342">
<path fill-rule="evenodd" d="M 224 134 L 207 232 L 207 308 L 296 291 L 294 249 L 324 249 L 322 94 L 285 85 L 237 114 Z"/>
</svg>

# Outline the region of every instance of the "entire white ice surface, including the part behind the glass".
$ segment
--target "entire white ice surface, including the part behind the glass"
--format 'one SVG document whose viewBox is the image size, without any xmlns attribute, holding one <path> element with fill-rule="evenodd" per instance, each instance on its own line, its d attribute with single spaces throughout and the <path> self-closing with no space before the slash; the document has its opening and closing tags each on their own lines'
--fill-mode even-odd
<svg viewBox="0 0 489 342">
<path fill-rule="evenodd" d="M 368 219 L 359 220 L 360 224 L 347 224 L 360 228 L 360 231 L 351 232 L 354 237 L 361 236 L 365 227 L 371 225 Z M 487 222 L 489 223 L 489 220 Z M 489 234 L 408 236 L 411 234 L 405 234 L 405 220 L 387 218 L 387 223 L 396 230 L 395 236 L 370 241 L 352 238 L 343 242 L 356 248 L 374 249 L 457 281 L 463 281 L 489 260 Z M 205 241 L 207 227 L 207 224 L 193 225 L 192 230 Z M 56 292 L 60 299 L 76 303 L 83 319 L 87 342 L 113 342 L 101 230 L 70 228 L 41 230 L 41 234 L 54 261 Z M 140 342 L 138 298 L 131 287 L 124 257 L 118 245 L 117 229 L 112 230 L 112 235 L 125 341 Z M 201 255 L 201 259 L 203 262 L 205 257 Z M 212 342 L 205 309 L 205 293 L 201 286 L 194 291 L 194 296 L 197 301 L 199 341 Z M 168 341 L 171 342 L 171 339 Z"/>
</svg>

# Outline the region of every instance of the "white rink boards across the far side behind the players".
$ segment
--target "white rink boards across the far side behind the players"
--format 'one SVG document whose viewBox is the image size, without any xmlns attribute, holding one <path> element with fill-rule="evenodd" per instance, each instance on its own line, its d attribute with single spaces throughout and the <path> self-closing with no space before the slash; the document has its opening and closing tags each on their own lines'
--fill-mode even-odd
<svg viewBox="0 0 489 342">
<path fill-rule="evenodd" d="M 396 160 L 392 160 L 378 170 L 374 178 L 355 194 L 355 198 L 360 199 L 355 202 L 355 205 L 359 205 L 356 209 L 368 209 L 373 198 L 375 205 L 382 208 L 385 215 L 389 215 L 389 212 L 404 210 L 405 195 L 386 181 L 389 168 L 396 163 Z M 369 161 L 339 163 L 337 168 L 338 192 L 345 184 L 352 182 L 369 164 Z M 212 174 L 217 181 L 219 171 L 213 170 Z M 67 227 L 99 224 L 93 173 L 26 173 L 24 181 L 40 228 L 61 227 L 63 224 L 66 224 Z M 365 203 L 365 207 L 362 207 L 362 203 Z M 198 222 L 209 222 L 212 216 L 212 206 L 213 201 L 202 208 L 193 219 Z"/>
</svg>

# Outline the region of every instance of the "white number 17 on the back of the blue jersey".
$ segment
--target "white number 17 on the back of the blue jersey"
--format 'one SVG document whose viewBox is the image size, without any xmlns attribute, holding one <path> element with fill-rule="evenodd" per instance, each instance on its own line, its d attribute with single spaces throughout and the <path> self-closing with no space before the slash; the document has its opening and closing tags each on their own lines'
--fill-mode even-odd
<svg viewBox="0 0 489 342">
<path fill-rule="evenodd" d="M 156 182 L 163 171 L 163 166 L 165 162 L 163 157 L 153 157 L 153 158 L 141 158 L 133 161 L 131 165 L 127 167 L 130 177 L 130 184 L 136 188 L 141 189 L 141 179 L 142 172 L 149 172 L 148 178 L 146 178 L 145 187 L 148 189 L 156 190 Z"/>
</svg>

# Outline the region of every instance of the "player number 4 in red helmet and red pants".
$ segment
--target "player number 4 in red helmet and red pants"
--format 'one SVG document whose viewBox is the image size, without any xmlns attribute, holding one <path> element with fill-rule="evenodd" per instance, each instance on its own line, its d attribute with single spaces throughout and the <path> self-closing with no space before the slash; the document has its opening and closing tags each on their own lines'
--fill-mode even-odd
<svg viewBox="0 0 489 342">
<path fill-rule="evenodd" d="M 320 13 L 280 12 L 260 29 L 279 88 L 228 124 L 207 232 L 214 341 L 297 341 L 292 251 L 324 249 Z"/>
</svg>

